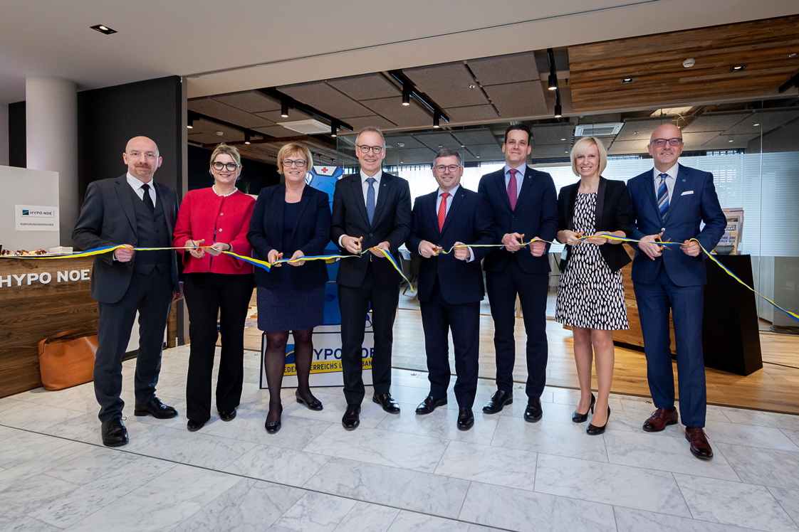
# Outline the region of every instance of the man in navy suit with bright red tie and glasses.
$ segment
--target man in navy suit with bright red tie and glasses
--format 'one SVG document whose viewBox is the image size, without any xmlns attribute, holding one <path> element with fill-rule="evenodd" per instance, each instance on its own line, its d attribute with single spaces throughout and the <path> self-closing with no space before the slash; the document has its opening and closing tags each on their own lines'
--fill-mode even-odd
<svg viewBox="0 0 799 532">
<path fill-rule="evenodd" d="M 475 424 L 471 407 L 477 391 L 480 342 L 480 301 L 483 301 L 483 272 L 480 259 L 487 247 L 452 246 L 493 244 L 491 206 L 487 199 L 460 186 L 463 159 L 458 152 L 440 150 L 433 160 L 433 175 L 439 189 L 419 196 L 411 213 L 411 236 L 407 248 L 422 256 L 419 265 L 419 305 L 422 310 L 424 347 L 430 393 L 416 413 L 429 414 L 447 404 L 450 381 L 449 343 L 452 330 L 455 345 L 455 398 L 458 400 L 458 428 Z"/>
</svg>

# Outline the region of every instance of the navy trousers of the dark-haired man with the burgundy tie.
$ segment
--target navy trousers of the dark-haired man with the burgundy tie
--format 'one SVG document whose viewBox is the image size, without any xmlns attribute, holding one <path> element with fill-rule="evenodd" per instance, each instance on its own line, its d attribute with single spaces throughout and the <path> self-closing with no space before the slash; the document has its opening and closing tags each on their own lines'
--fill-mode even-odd
<svg viewBox="0 0 799 532">
<path fill-rule="evenodd" d="M 494 318 L 494 349 L 497 365 L 497 389 L 513 390 L 513 366 L 516 342 L 513 329 L 516 294 L 522 304 L 524 330 L 527 333 L 528 397 L 540 397 L 547 383 L 547 290 L 549 274 L 528 274 L 515 260 L 500 272 L 486 272 L 486 290 Z"/>
</svg>

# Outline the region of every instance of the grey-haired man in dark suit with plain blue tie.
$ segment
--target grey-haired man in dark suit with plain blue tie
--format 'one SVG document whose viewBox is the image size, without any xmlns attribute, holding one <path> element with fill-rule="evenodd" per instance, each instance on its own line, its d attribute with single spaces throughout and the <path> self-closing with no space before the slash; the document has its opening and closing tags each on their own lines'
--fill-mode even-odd
<svg viewBox="0 0 799 532">
<path fill-rule="evenodd" d="M 400 246 L 411 234 L 411 189 L 405 179 L 382 170 L 386 142 L 378 128 L 363 128 L 356 138 L 360 163 L 357 174 L 344 175 L 333 193 L 330 238 L 341 250 L 360 254 L 379 247 L 400 262 Z M 375 350 L 372 355 L 372 400 L 384 411 L 399 414 L 392 398 L 392 329 L 400 301 L 400 274 L 378 250 L 340 262 L 336 276 L 341 309 L 341 365 L 347 410 L 341 424 L 353 430 L 360 424 L 364 400 L 361 377 L 366 315 L 372 307 Z"/>
</svg>

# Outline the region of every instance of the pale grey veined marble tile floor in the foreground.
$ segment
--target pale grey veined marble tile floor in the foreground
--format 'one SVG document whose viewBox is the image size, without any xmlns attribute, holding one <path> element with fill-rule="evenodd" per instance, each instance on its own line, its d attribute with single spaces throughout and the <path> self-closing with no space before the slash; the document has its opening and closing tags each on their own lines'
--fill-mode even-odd
<svg viewBox="0 0 799 532">
<path fill-rule="evenodd" d="M 185 414 L 188 348 L 164 353 L 158 395 Z M 640 426 L 645 398 L 612 396 L 604 435 L 570 414 L 574 390 L 547 388 L 544 418 L 523 420 L 523 389 L 455 428 L 457 403 L 415 416 L 427 374 L 395 369 L 400 415 L 367 388 L 361 426 L 341 427 L 340 388 L 315 388 L 322 412 L 285 389 L 283 428 L 264 431 L 268 391 L 248 353 L 242 404 L 199 432 L 185 418 L 133 416 L 134 361 L 124 364 L 130 443 L 101 445 L 91 384 L 0 399 L 0 530 L 797 530 L 799 417 L 712 407 L 714 459 L 694 459 L 681 425 Z"/>
</svg>

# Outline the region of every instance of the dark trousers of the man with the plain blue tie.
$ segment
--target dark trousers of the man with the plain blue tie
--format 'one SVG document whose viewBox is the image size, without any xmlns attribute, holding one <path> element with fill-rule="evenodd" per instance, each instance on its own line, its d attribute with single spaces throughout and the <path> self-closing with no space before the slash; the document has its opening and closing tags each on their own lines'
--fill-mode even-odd
<svg viewBox="0 0 799 532">
<path fill-rule="evenodd" d="M 376 260 L 385 260 L 378 258 Z M 376 282 L 369 263 L 361 286 L 339 285 L 341 310 L 341 366 L 344 373 L 344 397 L 347 404 L 364 400 L 363 352 L 366 313 L 372 305 L 372 330 L 375 349 L 372 353 L 372 383 L 375 393 L 388 393 L 392 386 L 392 345 L 394 318 L 400 302 L 400 285 Z"/>
</svg>

